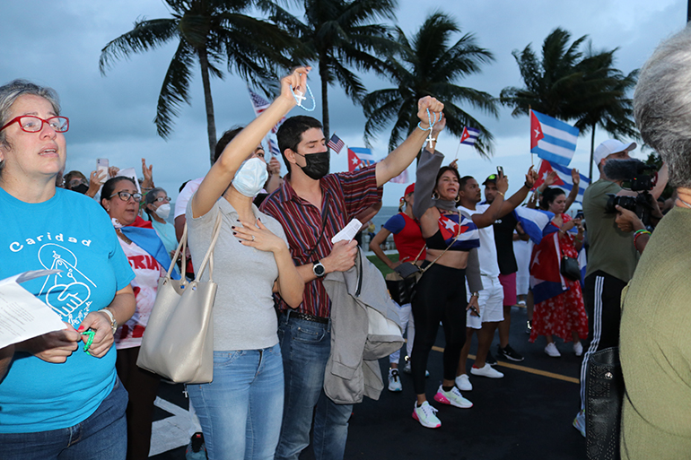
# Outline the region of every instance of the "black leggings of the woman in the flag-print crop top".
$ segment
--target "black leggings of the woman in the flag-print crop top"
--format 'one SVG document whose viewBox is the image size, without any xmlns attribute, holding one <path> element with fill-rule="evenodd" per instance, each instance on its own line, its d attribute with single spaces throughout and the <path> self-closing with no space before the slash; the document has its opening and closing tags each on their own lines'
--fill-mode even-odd
<svg viewBox="0 0 691 460">
<path fill-rule="evenodd" d="M 425 267 L 429 262 L 424 262 Z M 460 349 L 466 342 L 466 270 L 432 265 L 417 283 L 413 299 L 415 342 L 410 366 L 416 395 L 424 394 L 427 357 L 437 336 L 439 322 L 444 327 L 444 379 L 456 378 Z"/>
</svg>

